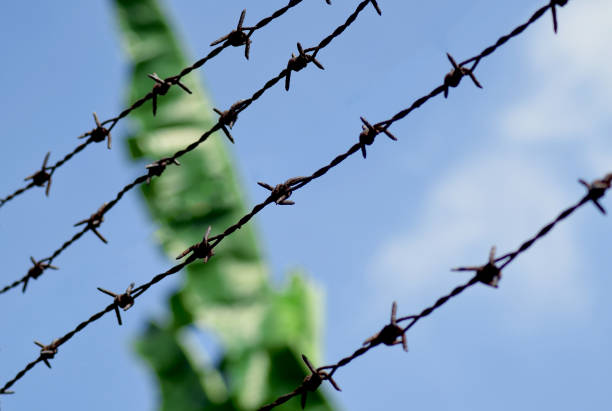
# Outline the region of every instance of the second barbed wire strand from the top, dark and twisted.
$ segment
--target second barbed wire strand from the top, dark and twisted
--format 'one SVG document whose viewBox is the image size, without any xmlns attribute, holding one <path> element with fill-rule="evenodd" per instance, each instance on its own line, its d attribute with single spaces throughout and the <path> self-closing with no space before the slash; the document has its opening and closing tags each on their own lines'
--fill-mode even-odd
<svg viewBox="0 0 612 411">
<path fill-rule="evenodd" d="M 378 7 L 378 4 L 376 3 L 376 0 L 364 0 L 364 1 L 362 1 L 361 3 L 359 3 L 357 5 L 355 11 L 353 13 L 351 13 L 351 15 L 349 15 L 349 17 L 347 18 L 347 20 L 343 24 L 338 26 L 332 32 L 332 34 L 328 35 L 323 40 L 321 40 L 321 42 L 317 46 L 310 47 L 310 48 L 307 48 L 307 49 L 303 49 L 301 44 L 298 43 L 298 49 L 299 49 L 299 53 L 300 54 L 298 56 L 294 56 L 292 54 L 292 57 L 289 59 L 289 62 L 287 63 L 286 68 L 281 70 L 278 75 L 276 75 L 272 79 L 268 80 L 259 90 L 257 90 L 255 93 L 253 93 L 253 95 L 251 97 L 249 97 L 248 99 L 246 99 L 246 100 L 238 100 L 236 103 L 232 104 L 232 106 L 228 110 L 221 111 L 221 110 L 219 110 L 217 108 L 214 108 L 214 111 L 219 115 L 219 119 L 217 120 L 217 123 L 215 125 L 213 125 L 208 131 L 206 131 L 204 134 L 202 134 L 196 141 L 194 141 L 193 143 L 189 144 L 187 147 L 177 151 L 171 157 L 164 157 L 164 158 L 162 158 L 162 159 L 160 159 L 158 161 L 155 161 L 152 164 L 147 165 L 146 166 L 146 170 L 147 170 L 146 174 L 143 174 L 143 175 L 137 177 L 131 183 L 129 183 L 126 186 L 124 186 L 115 195 L 115 197 L 111 201 L 109 201 L 107 203 L 104 203 L 98 209 L 98 211 L 96 211 L 94 214 L 91 215 L 91 217 L 89 219 L 85 219 L 85 220 L 82 220 L 79 223 L 77 223 L 76 225 L 81 225 L 81 224 L 83 225 L 83 228 L 81 229 L 81 231 L 75 233 L 72 236 L 72 238 L 70 238 L 68 241 L 64 242 L 49 257 L 45 257 L 45 258 L 43 258 L 41 260 L 35 260 L 33 257 L 31 257 L 31 260 L 33 261 L 33 267 L 31 267 L 29 269 L 29 271 L 23 277 L 21 277 L 21 278 L 19 278 L 17 280 L 14 280 L 12 283 L 10 283 L 10 284 L 4 286 L 2 289 L 0 289 L 0 294 L 4 294 L 4 293 L 8 292 L 8 291 L 18 287 L 20 284 L 23 284 L 22 291 L 25 292 L 26 289 L 27 289 L 27 284 L 28 284 L 29 280 L 30 279 L 37 279 L 37 278 L 39 278 L 44 273 L 45 267 L 42 266 L 41 264 L 43 264 L 43 265 L 44 264 L 47 264 L 47 265 L 52 264 L 53 261 L 61 253 L 63 253 L 68 247 L 70 247 L 77 240 L 79 240 L 83 236 L 83 234 L 85 234 L 87 231 L 92 231 L 98 238 L 100 238 L 101 241 L 106 243 L 106 239 L 97 231 L 97 229 L 100 227 L 100 225 L 104 221 L 105 214 L 108 211 L 110 211 L 123 198 L 123 196 L 127 192 L 131 191 L 134 187 L 136 187 L 136 186 L 138 186 L 138 185 L 140 185 L 142 183 L 145 183 L 145 182 L 149 183 L 153 177 L 160 177 L 164 173 L 164 171 L 166 170 L 167 166 L 172 165 L 172 164 L 180 165 L 180 163 L 178 162 L 178 159 L 180 157 L 182 157 L 183 155 L 185 155 L 185 154 L 195 150 L 200 144 L 205 142 L 212 134 L 214 134 L 215 132 L 217 132 L 219 130 L 223 131 L 224 134 L 227 136 L 227 138 L 233 143 L 234 142 L 234 138 L 230 134 L 229 129 L 231 129 L 234 126 L 234 124 L 236 123 L 236 121 L 238 119 L 238 114 L 241 113 L 242 111 L 246 110 L 257 99 L 259 99 L 261 96 L 263 96 L 266 91 L 268 91 L 270 88 L 272 88 L 274 85 L 276 85 L 283 78 L 285 79 L 285 85 L 286 85 L 286 88 L 288 89 L 289 78 L 291 76 L 291 72 L 292 71 L 300 71 L 303 68 L 305 68 L 309 63 L 313 63 L 315 65 L 317 65 L 317 64 L 320 65 L 320 63 L 316 60 L 317 53 L 320 50 L 322 50 L 323 48 L 327 47 L 329 44 L 331 44 L 331 42 L 335 38 L 340 36 L 351 24 L 353 24 L 355 22 L 355 20 L 357 19 L 357 16 L 370 3 L 372 3 L 374 5 L 374 8 L 380 14 L 380 8 Z M 241 19 L 241 21 L 242 21 L 242 19 Z M 240 25 L 240 22 L 239 22 L 239 25 Z M 311 54 L 308 54 L 308 53 L 311 53 Z M 49 266 L 47 268 L 51 268 L 51 266 Z M 57 268 L 55 268 L 55 269 L 57 269 Z"/>
</svg>

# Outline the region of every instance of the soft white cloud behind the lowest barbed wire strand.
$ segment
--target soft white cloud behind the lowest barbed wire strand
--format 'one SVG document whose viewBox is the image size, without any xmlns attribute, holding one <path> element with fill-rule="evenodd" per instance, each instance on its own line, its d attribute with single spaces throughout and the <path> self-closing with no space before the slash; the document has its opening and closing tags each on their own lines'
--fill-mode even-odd
<svg viewBox="0 0 612 411">
<path fill-rule="evenodd" d="M 481 154 L 449 169 L 423 199 L 417 225 L 378 250 L 369 272 L 379 299 L 409 302 L 402 312 L 424 308 L 469 279 L 451 267 L 486 262 L 492 245 L 515 249 L 571 204 L 563 185 L 525 151 Z M 505 270 L 496 299 L 506 312 L 530 313 L 536 322 L 583 314 L 579 249 L 570 227 L 553 230 Z M 525 326 L 525 318 L 515 320 L 506 324 Z"/>
</svg>

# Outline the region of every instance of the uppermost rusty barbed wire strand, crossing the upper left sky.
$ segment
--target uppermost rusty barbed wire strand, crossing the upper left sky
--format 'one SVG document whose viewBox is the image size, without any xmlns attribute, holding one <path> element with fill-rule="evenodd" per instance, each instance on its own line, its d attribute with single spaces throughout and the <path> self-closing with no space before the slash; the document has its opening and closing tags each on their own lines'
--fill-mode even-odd
<svg viewBox="0 0 612 411">
<path fill-rule="evenodd" d="M 55 171 L 58 168 L 60 168 L 62 165 L 64 165 L 66 162 L 68 162 L 70 159 L 72 159 L 75 155 L 83 151 L 91 143 L 99 143 L 99 142 L 106 141 L 107 147 L 110 150 L 111 131 L 122 118 L 127 117 L 132 111 L 141 107 L 143 104 L 145 104 L 149 100 L 152 101 L 153 115 L 155 115 L 157 112 L 157 97 L 166 95 L 168 91 L 170 90 L 170 88 L 175 85 L 178 85 L 185 92 L 191 94 L 191 90 L 189 90 L 181 82 L 181 79 L 185 77 L 186 75 L 188 75 L 189 73 L 191 73 L 192 71 L 202 67 L 204 64 L 206 64 L 206 62 L 213 59 L 214 57 L 219 55 L 224 49 L 230 46 L 233 46 L 233 47 L 245 46 L 245 57 L 248 59 L 250 45 L 252 43 L 251 36 L 253 35 L 253 33 L 267 26 L 272 21 L 278 19 L 283 14 L 285 14 L 287 11 L 297 6 L 298 4 L 302 3 L 303 1 L 304 0 L 291 0 L 286 6 L 276 10 L 270 16 L 261 19 L 259 22 L 257 22 L 254 26 L 251 26 L 251 27 L 244 27 L 242 25 L 244 22 L 245 15 L 246 15 L 246 9 L 244 9 L 242 13 L 240 14 L 240 19 L 238 21 L 238 26 L 236 27 L 236 29 L 232 30 L 229 34 L 221 37 L 220 39 L 212 42 L 211 46 L 215 46 L 218 44 L 220 45 L 214 48 L 212 51 L 210 51 L 205 57 L 196 61 L 191 66 L 185 67 L 177 75 L 170 76 L 165 79 L 159 78 L 156 73 L 149 74 L 149 78 L 151 78 L 154 81 L 154 85 L 151 91 L 148 92 L 143 97 L 136 100 L 135 102 L 133 102 L 132 105 L 124 109 L 116 117 L 112 117 L 112 118 L 109 118 L 108 120 L 104 120 L 100 122 L 98 120 L 98 116 L 96 115 L 96 113 L 93 113 L 94 122 L 96 124 L 96 127 L 77 137 L 77 139 L 84 139 L 86 137 L 89 137 L 89 138 L 85 140 L 83 143 L 76 146 L 71 152 L 66 154 L 62 159 L 60 159 L 59 161 L 57 161 L 55 164 L 51 166 L 47 166 L 47 161 L 49 159 L 50 152 L 47 153 L 41 170 L 39 170 L 32 176 L 27 177 L 25 179 L 25 181 L 29 179 L 31 179 L 32 181 L 28 183 L 27 185 L 25 185 L 24 187 L 21 187 L 17 189 L 16 191 L 14 191 L 13 193 L 7 195 L 6 197 L 0 198 L 0 207 L 2 207 L 7 202 L 13 200 L 17 196 L 25 193 L 26 191 L 30 190 L 33 187 L 42 187 L 46 185 L 45 194 L 48 196 L 49 189 L 51 187 L 51 178 L 53 174 L 55 173 Z M 325 1 L 327 4 L 331 4 L 330 0 L 325 0 Z M 110 126 L 106 127 L 106 125 L 108 124 L 110 124 Z"/>
</svg>

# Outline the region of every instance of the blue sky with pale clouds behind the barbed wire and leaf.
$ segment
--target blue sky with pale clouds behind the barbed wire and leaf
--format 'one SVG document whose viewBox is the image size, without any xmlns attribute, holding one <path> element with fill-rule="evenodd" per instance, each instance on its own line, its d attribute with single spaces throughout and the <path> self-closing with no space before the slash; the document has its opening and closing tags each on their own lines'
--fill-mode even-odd
<svg viewBox="0 0 612 411">
<path fill-rule="evenodd" d="M 194 61 L 243 8 L 248 25 L 284 4 L 164 3 Z M 318 43 L 357 1 L 305 3 L 255 35 L 250 61 L 231 49 L 197 72 L 215 105 L 249 96 L 297 41 Z M 325 71 L 296 73 L 289 93 L 276 87 L 241 114 L 234 148 L 251 203 L 266 195 L 256 181 L 310 174 L 356 141 L 360 115 L 388 118 L 440 83 L 446 52 L 457 60 L 478 53 L 543 2 L 379 4 L 382 17 L 365 11 L 319 54 Z M 3 8 L 3 194 L 47 150 L 52 160 L 69 151 L 92 127 L 92 111 L 107 118 L 124 106 L 127 66 L 111 6 Z M 420 311 L 467 280 L 451 267 L 483 263 L 491 245 L 514 249 L 583 195 L 578 178 L 612 171 L 610 18 L 609 2 L 570 2 L 559 10 L 557 36 L 544 17 L 481 63 L 483 90 L 466 81 L 394 126 L 398 142 L 381 139 L 367 160 L 355 156 L 296 193 L 295 206 L 260 214 L 255 224 L 275 280 L 301 267 L 325 291 L 327 362 L 378 331 L 393 300 L 402 314 Z M 60 169 L 49 198 L 32 190 L 0 210 L 3 283 L 142 172 L 128 161 L 124 127 L 113 134 L 113 150 L 90 147 Z M 470 289 L 415 326 L 408 354 L 380 348 L 338 371 L 343 392 L 334 399 L 347 410 L 605 408 L 610 224 L 594 207 L 582 209 L 510 265 L 499 289 Z M 122 290 L 167 268 L 154 231 L 134 191 L 101 227 L 108 245 L 88 234 L 58 258 L 60 271 L 31 283 L 26 295 L 1 296 L 2 380 L 35 358 L 33 339 L 48 342 L 105 306 L 96 286 Z M 130 344 L 145 319 L 163 315 L 179 281 L 139 299 L 123 327 L 108 316 L 61 347 L 53 370 L 36 367 L 16 395 L 0 398 L 2 407 L 155 409 L 154 381 Z"/>
</svg>

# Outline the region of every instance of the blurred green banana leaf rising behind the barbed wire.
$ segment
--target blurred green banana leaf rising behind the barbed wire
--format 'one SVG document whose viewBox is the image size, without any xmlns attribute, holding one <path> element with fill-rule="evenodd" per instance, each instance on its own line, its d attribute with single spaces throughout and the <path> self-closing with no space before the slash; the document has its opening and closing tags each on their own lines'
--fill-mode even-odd
<svg viewBox="0 0 612 411">
<path fill-rule="evenodd" d="M 131 63 L 131 102 L 151 90 L 147 74 L 175 75 L 188 61 L 156 0 L 114 3 Z M 134 159 L 172 155 L 214 124 L 197 74 L 184 83 L 193 94 L 173 87 L 158 99 L 157 116 L 142 107 L 128 117 Z M 215 235 L 246 211 L 222 135 L 180 161 L 142 186 L 157 240 L 171 258 L 201 241 L 208 226 Z M 183 286 L 169 299 L 167 318 L 151 321 L 136 343 L 157 377 L 160 410 L 257 409 L 292 391 L 307 375 L 302 353 L 319 362 L 321 293 L 301 273 L 292 273 L 285 288 L 275 290 L 252 224 L 223 241 L 208 263 L 196 262 L 185 271 Z M 201 332 L 220 342 L 221 358 L 209 358 L 199 343 Z M 299 401 L 279 409 L 300 409 Z M 333 408 L 319 390 L 309 394 L 307 409 Z"/>
</svg>

